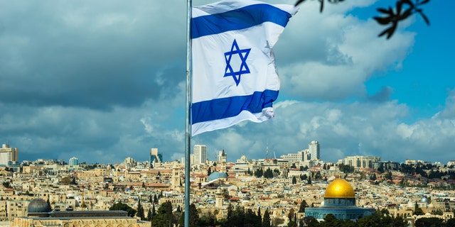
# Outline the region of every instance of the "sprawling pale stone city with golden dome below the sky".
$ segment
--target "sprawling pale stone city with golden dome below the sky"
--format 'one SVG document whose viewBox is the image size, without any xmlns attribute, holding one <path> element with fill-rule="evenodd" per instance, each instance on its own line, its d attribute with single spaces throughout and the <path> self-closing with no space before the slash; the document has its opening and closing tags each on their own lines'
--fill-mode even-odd
<svg viewBox="0 0 455 227">
<path fill-rule="evenodd" d="M 126 157 L 114 165 L 63 160 L 14 160 L 17 148 L 3 145 L 7 165 L 0 166 L 0 226 L 151 226 L 144 216 L 130 217 L 124 211 L 109 211 L 119 202 L 138 209 L 145 216 L 160 204 L 171 202 L 173 210 L 185 206 L 184 161 L 164 161 L 158 148 L 150 159 L 139 162 Z M 3 157 L 0 155 L 0 158 Z M 269 212 L 271 222 L 287 226 L 292 220 L 328 214 L 337 219 L 358 220 L 387 209 L 412 226 L 419 218 L 454 218 L 455 161 L 406 160 L 408 167 L 427 165 L 427 174 L 443 172 L 437 179 L 424 173 L 400 172 L 402 164 L 375 156 L 348 156 L 338 162 L 321 160 L 316 140 L 297 153 L 249 159 L 242 155 L 228 162 L 226 150 L 209 160 L 207 146 L 196 144 L 191 154 L 191 203 L 199 215 L 217 220 L 228 216 L 229 206 Z M 341 165 L 351 172 L 342 172 Z M 425 187 L 422 187 L 425 185 Z M 419 186 L 419 187 L 417 187 Z M 306 209 L 301 210 L 301 204 Z M 423 214 L 414 211 L 422 209 Z M 155 210 L 155 211 L 156 211 Z M 289 218 L 291 217 L 291 218 Z M 172 225 L 171 225 L 172 226 Z"/>
</svg>

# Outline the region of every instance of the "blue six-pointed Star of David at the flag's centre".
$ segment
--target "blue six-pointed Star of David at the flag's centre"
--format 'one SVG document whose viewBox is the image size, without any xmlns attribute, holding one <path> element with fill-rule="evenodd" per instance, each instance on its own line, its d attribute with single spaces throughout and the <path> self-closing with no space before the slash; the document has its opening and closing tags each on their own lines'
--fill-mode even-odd
<svg viewBox="0 0 455 227">
<path fill-rule="evenodd" d="M 239 86 L 240 77 L 242 77 L 242 74 L 250 73 L 250 69 L 247 65 L 247 57 L 250 54 L 250 50 L 251 48 L 240 50 L 239 45 L 237 45 L 237 40 L 234 39 L 234 43 L 232 43 L 230 51 L 225 52 L 226 69 L 224 77 L 232 77 L 235 81 L 236 86 Z M 240 69 L 237 72 L 234 72 L 234 70 L 232 70 L 232 66 L 230 65 L 232 55 L 238 55 L 240 57 L 240 60 L 242 60 Z"/>
</svg>

